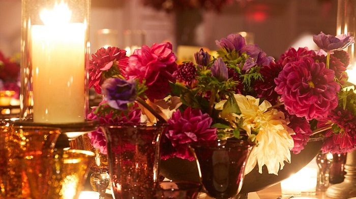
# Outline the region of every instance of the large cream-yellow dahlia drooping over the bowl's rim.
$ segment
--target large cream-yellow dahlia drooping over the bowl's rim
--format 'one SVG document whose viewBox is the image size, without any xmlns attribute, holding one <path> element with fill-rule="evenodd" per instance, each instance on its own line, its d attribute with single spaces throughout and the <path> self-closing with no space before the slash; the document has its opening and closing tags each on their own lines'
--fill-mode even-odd
<svg viewBox="0 0 356 199">
<path fill-rule="evenodd" d="M 256 146 L 252 149 L 249 160 L 246 163 L 245 173 L 249 173 L 258 164 L 259 173 L 265 165 L 270 174 L 278 175 L 279 169 L 283 169 L 284 161 L 290 163 L 290 149 L 293 148 L 293 130 L 287 126 L 284 113 L 277 109 L 268 110 L 271 103 L 264 100 L 259 104 L 259 99 L 252 96 L 234 94 L 239 104 L 241 114 L 221 115 L 231 122 L 244 119 L 243 128 L 249 136 L 255 134 Z M 224 102 L 217 104 L 221 107 Z"/>
</svg>

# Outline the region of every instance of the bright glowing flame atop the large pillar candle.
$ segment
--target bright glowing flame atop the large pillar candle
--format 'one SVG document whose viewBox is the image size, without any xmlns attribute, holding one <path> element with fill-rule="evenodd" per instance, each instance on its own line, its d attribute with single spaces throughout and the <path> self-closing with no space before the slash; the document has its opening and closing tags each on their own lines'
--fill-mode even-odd
<svg viewBox="0 0 356 199">
<path fill-rule="evenodd" d="M 69 23 L 72 11 L 69 10 L 68 4 L 61 2 L 55 3 L 52 10 L 43 9 L 40 18 L 45 25 L 63 25 Z"/>
</svg>

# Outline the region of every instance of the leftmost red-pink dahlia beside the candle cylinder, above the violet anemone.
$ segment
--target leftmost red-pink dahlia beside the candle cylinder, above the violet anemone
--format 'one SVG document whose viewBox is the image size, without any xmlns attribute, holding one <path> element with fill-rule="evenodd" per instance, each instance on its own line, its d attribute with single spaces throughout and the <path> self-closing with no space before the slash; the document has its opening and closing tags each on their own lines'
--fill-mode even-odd
<svg viewBox="0 0 356 199">
<path fill-rule="evenodd" d="M 128 60 L 125 50 L 116 47 L 99 49 L 89 60 L 89 87 L 94 87 L 101 94 L 101 85 L 105 79 L 113 75 L 125 76 Z"/>
</svg>

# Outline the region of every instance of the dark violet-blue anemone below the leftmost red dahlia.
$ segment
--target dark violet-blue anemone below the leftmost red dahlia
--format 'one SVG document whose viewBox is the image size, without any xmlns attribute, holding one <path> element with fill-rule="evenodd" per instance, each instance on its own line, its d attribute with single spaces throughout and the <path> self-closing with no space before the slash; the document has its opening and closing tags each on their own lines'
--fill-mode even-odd
<svg viewBox="0 0 356 199">
<path fill-rule="evenodd" d="M 108 78 L 102 85 L 102 92 L 110 107 L 127 110 L 127 104 L 136 98 L 136 82 L 134 79 Z"/>
</svg>

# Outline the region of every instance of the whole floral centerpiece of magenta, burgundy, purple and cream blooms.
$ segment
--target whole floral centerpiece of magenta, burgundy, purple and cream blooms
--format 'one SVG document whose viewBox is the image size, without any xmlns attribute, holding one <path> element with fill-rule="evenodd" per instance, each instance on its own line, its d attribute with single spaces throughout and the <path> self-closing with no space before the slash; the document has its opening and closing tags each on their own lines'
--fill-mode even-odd
<svg viewBox="0 0 356 199">
<path fill-rule="evenodd" d="M 288 49 L 278 60 L 240 34 L 216 41 L 218 56 L 201 49 L 195 61 L 176 63 L 170 43 L 136 49 L 128 57 L 101 48 L 90 61 L 90 87 L 103 101 L 88 115 L 100 123 L 167 122 L 163 159 L 193 160 L 187 144 L 214 139 L 256 143 L 247 170 L 262 166 L 278 174 L 290 153 L 312 136 L 325 137 L 322 150 L 355 148 L 356 95 L 348 88 L 349 34 L 313 36 L 320 50 Z M 106 153 L 103 132 L 88 133 Z M 247 171 L 247 172 L 248 172 Z"/>
</svg>

